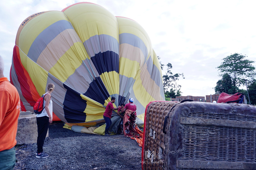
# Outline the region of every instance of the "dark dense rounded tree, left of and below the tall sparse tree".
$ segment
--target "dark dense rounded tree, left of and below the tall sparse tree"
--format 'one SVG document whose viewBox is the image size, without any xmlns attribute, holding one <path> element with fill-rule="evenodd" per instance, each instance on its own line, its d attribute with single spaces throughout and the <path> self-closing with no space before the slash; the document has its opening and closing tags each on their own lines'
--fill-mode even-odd
<svg viewBox="0 0 256 170">
<path fill-rule="evenodd" d="M 220 94 L 222 92 L 227 94 L 235 94 L 238 88 L 233 86 L 231 76 L 227 73 L 222 75 L 222 79 L 217 81 L 214 88 L 215 94 Z"/>
</svg>

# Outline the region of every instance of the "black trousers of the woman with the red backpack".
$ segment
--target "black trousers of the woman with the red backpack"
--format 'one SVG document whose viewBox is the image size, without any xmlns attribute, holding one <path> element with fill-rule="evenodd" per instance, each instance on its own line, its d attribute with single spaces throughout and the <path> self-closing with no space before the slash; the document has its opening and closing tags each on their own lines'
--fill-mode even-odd
<svg viewBox="0 0 256 170">
<path fill-rule="evenodd" d="M 43 152 L 44 139 L 49 128 L 49 117 L 36 117 L 37 124 L 37 153 Z"/>
</svg>

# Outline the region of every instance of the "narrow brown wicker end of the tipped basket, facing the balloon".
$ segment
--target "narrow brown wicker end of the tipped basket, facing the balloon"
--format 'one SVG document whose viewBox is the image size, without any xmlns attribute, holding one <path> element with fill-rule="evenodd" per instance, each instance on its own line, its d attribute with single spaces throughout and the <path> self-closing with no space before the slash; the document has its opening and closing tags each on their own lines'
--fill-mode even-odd
<svg viewBox="0 0 256 170">
<path fill-rule="evenodd" d="M 165 134 L 164 118 L 177 102 L 153 102 L 146 113 L 146 132 L 144 142 L 143 169 L 164 169 L 163 152 Z"/>
</svg>

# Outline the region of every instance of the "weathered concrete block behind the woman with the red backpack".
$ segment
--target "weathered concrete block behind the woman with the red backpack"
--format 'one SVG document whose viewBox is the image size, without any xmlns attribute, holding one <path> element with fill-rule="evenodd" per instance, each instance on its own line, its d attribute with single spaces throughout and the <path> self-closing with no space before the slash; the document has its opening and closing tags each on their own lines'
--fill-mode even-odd
<svg viewBox="0 0 256 170">
<path fill-rule="evenodd" d="M 25 113 L 22 113 L 25 114 Z M 46 137 L 49 134 L 47 132 Z M 37 141 L 36 115 L 27 112 L 27 115 L 20 115 L 18 118 L 18 128 L 16 135 L 17 145 L 32 144 Z"/>
</svg>

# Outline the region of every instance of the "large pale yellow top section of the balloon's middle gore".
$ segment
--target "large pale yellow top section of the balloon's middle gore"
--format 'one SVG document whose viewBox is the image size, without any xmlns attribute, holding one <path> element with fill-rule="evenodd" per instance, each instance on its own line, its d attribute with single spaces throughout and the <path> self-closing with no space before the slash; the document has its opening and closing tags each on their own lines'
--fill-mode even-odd
<svg viewBox="0 0 256 170">
<path fill-rule="evenodd" d="M 64 11 L 82 42 L 94 35 L 106 34 L 119 40 L 116 17 L 96 4 L 73 5 Z M 118 41 L 119 42 L 119 41 Z"/>
</svg>

